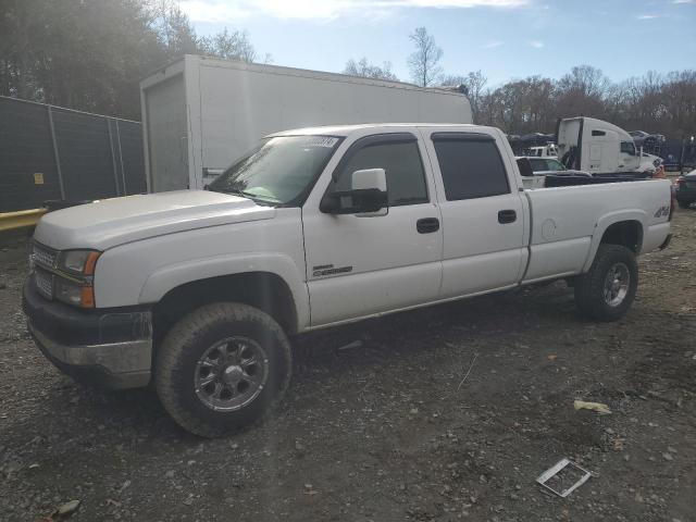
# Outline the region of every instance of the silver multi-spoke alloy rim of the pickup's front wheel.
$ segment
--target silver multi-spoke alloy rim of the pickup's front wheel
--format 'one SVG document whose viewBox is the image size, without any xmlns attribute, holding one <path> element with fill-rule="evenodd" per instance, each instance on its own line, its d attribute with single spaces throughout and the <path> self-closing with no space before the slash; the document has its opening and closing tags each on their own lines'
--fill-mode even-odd
<svg viewBox="0 0 696 522">
<path fill-rule="evenodd" d="M 235 411 L 263 390 L 269 378 L 269 358 L 256 340 L 227 337 L 203 351 L 195 371 L 198 399 L 215 411 Z"/>
</svg>

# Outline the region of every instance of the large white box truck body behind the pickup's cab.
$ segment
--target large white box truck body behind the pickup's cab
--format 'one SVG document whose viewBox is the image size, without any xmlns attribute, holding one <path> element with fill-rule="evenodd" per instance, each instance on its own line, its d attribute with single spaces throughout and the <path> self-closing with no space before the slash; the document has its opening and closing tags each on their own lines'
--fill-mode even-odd
<svg viewBox="0 0 696 522">
<path fill-rule="evenodd" d="M 152 192 L 203 188 L 278 130 L 472 123 L 469 100 L 455 90 L 190 54 L 144 79 L 140 101 Z"/>
</svg>

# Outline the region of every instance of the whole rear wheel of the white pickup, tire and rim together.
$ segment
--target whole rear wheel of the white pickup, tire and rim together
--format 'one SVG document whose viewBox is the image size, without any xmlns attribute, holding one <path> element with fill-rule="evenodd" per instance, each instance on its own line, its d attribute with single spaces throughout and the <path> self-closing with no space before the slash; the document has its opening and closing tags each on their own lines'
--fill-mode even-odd
<svg viewBox="0 0 696 522">
<path fill-rule="evenodd" d="M 617 321 L 631 308 L 637 287 L 635 254 L 620 245 L 599 245 L 589 271 L 575 281 L 575 303 L 585 316 Z"/>
</svg>

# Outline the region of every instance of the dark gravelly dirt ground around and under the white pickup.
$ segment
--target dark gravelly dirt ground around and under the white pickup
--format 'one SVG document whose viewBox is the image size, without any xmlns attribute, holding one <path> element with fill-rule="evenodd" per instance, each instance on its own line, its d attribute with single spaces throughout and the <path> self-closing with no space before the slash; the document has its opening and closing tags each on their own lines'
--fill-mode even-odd
<svg viewBox="0 0 696 522">
<path fill-rule="evenodd" d="M 24 326 L 15 241 L 0 251 L 0 520 L 77 499 L 75 521 L 694 521 L 696 211 L 673 225 L 623 321 L 579 319 L 558 283 L 303 339 L 279 412 L 219 440 L 183 433 L 152 393 L 54 370 Z M 534 482 L 561 457 L 595 473 L 567 499 Z"/>
</svg>

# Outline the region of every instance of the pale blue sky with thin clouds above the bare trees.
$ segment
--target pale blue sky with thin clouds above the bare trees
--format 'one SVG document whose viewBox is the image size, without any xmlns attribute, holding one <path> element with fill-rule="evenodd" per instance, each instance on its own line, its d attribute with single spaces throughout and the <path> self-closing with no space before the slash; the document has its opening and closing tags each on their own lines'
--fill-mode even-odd
<svg viewBox="0 0 696 522">
<path fill-rule="evenodd" d="M 612 80 L 696 69 L 696 0 L 182 0 L 197 33 L 246 29 L 275 65 L 341 72 L 391 63 L 410 82 L 409 34 L 424 26 L 446 74 L 481 70 L 488 86 L 573 65 Z"/>
</svg>

